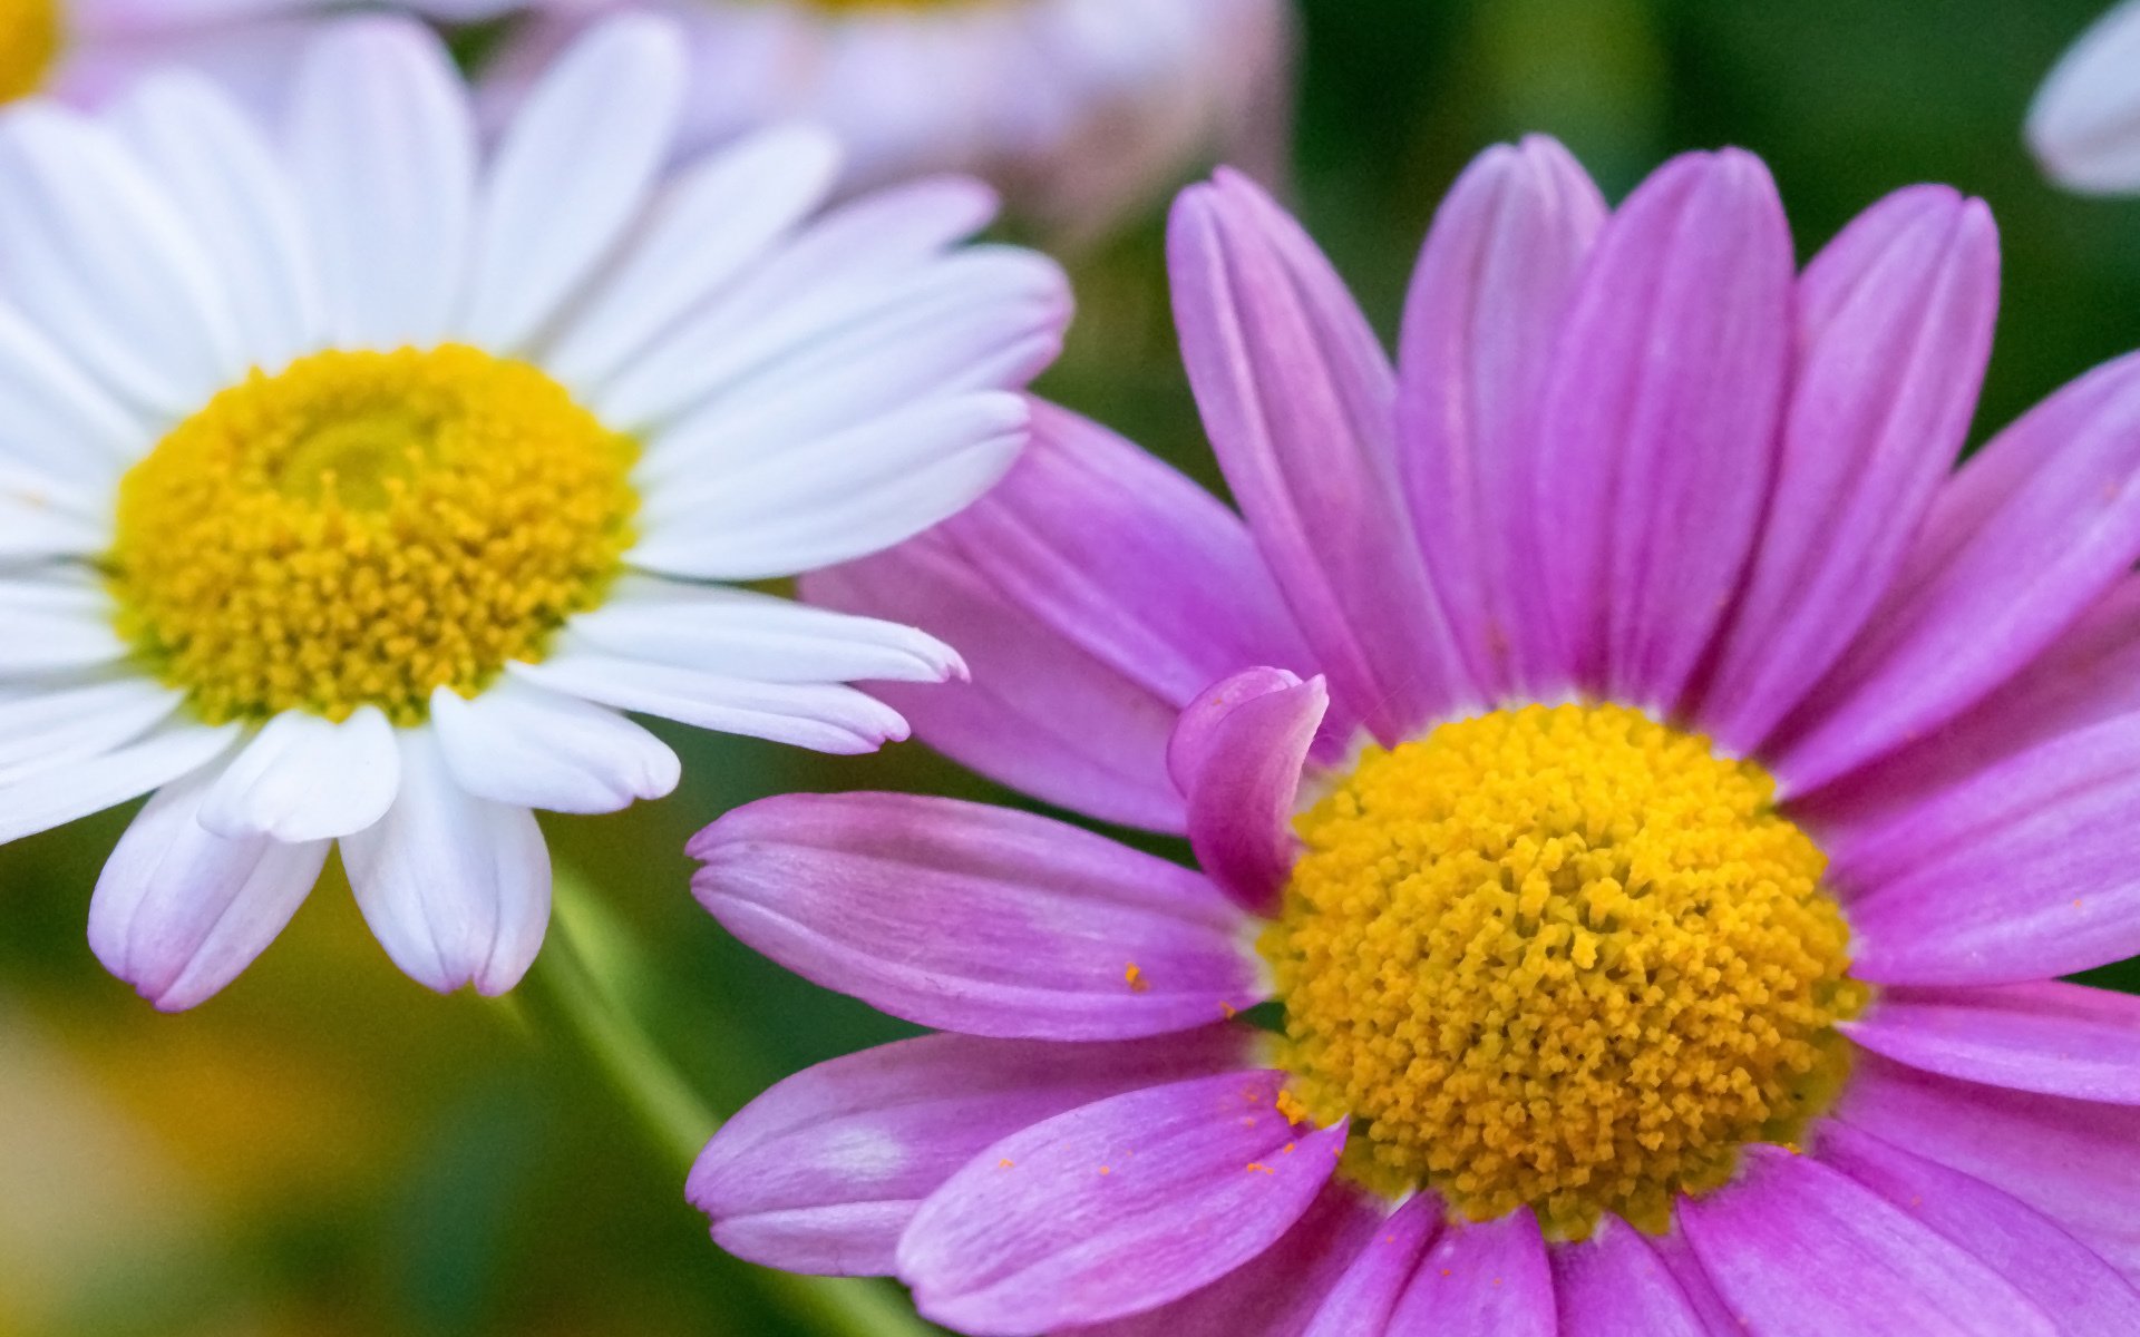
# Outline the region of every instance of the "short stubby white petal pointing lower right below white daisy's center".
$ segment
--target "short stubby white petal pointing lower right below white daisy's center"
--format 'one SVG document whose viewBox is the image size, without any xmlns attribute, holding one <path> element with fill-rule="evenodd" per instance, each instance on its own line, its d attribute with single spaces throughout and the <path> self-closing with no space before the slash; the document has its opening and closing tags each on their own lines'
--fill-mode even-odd
<svg viewBox="0 0 2140 1337">
<path fill-rule="evenodd" d="M 666 742 L 623 714 L 505 678 L 473 702 L 430 697 L 439 747 L 460 787 L 550 813 L 616 813 L 683 779 Z"/>
</svg>

